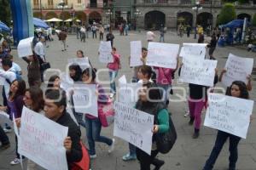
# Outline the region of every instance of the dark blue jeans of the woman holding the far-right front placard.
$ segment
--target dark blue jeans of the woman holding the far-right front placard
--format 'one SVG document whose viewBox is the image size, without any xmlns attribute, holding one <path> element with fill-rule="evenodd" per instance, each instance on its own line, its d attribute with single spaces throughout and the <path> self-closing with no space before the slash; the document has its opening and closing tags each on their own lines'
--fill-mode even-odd
<svg viewBox="0 0 256 170">
<path fill-rule="evenodd" d="M 222 150 L 222 147 L 224 146 L 224 143 L 226 140 L 230 138 L 230 170 L 236 169 L 236 161 L 238 159 L 238 151 L 237 151 L 237 145 L 240 141 L 240 137 L 237 137 L 230 133 L 225 133 L 223 131 L 218 131 L 217 138 L 214 144 L 214 147 L 212 149 L 211 155 L 208 158 L 206 165 L 204 167 L 204 170 L 212 170 L 212 167 L 215 163 L 215 161 L 218 158 L 218 154 Z"/>
</svg>

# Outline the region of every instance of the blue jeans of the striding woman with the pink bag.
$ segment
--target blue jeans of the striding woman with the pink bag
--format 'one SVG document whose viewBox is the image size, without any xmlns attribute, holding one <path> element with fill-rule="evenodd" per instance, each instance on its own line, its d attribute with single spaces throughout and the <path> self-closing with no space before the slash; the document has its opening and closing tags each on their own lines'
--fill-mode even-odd
<svg viewBox="0 0 256 170">
<path fill-rule="evenodd" d="M 101 136 L 102 131 L 102 123 L 98 118 L 90 119 L 85 117 L 86 124 L 86 136 L 89 144 L 89 154 L 95 155 L 95 142 L 102 142 L 108 144 L 109 146 L 113 143 L 112 139 L 108 139 L 104 136 Z"/>
</svg>

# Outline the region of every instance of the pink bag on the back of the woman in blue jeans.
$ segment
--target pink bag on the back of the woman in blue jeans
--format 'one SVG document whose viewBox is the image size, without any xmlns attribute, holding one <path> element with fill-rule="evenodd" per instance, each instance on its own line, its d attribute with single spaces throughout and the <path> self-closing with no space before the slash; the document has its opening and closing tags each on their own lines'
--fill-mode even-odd
<svg viewBox="0 0 256 170">
<path fill-rule="evenodd" d="M 107 103 L 98 104 L 98 116 L 102 123 L 102 127 L 109 127 L 114 120 L 113 102 L 108 98 Z"/>
</svg>

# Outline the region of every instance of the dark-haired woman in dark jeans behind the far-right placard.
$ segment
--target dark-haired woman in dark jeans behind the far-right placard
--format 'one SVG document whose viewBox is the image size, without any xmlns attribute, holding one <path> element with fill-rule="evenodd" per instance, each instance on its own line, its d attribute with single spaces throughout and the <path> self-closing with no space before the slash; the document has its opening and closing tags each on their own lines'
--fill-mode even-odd
<svg viewBox="0 0 256 170">
<path fill-rule="evenodd" d="M 236 98 L 241 99 L 249 99 L 249 94 L 247 91 L 247 86 L 244 82 L 241 81 L 235 81 L 232 82 L 230 88 L 230 92 L 228 95 Z M 215 140 L 214 147 L 212 149 L 211 155 L 208 158 L 205 167 L 203 170 L 211 170 L 214 166 L 215 161 L 218 158 L 218 154 L 222 150 L 222 147 L 224 146 L 224 143 L 226 140 L 230 138 L 230 165 L 229 170 L 235 170 L 236 169 L 236 161 L 238 159 L 238 150 L 237 145 L 240 142 L 240 137 L 237 137 L 230 133 L 225 133 L 223 131 L 218 130 L 217 138 Z"/>
</svg>

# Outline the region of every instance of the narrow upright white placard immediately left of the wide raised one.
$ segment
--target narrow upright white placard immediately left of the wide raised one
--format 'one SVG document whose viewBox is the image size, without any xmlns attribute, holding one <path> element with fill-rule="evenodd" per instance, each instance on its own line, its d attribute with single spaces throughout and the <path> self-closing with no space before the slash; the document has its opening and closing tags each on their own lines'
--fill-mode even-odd
<svg viewBox="0 0 256 170">
<path fill-rule="evenodd" d="M 142 42 L 141 41 L 133 41 L 130 42 L 131 45 L 131 58 L 130 58 L 130 66 L 139 66 L 143 65 L 142 57 Z"/>
</svg>

